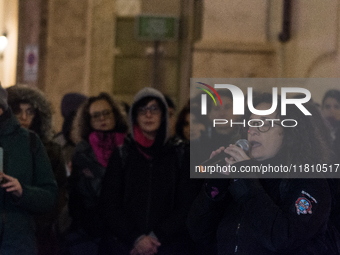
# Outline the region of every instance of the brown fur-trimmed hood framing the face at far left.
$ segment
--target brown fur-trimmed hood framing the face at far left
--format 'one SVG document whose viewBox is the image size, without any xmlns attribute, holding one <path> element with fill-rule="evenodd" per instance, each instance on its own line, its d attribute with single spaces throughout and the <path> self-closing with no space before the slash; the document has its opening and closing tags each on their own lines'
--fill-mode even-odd
<svg viewBox="0 0 340 255">
<path fill-rule="evenodd" d="M 20 103 L 29 103 L 33 106 L 37 114 L 33 122 L 39 123 L 38 127 L 32 128 L 43 142 L 52 139 L 52 107 L 51 103 L 47 100 L 44 93 L 36 88 L 31 88 L 26 85 L 15 85 L 7 88 L 8 92 L 8 105 L 14 109 Z M 36 122 L 36 118 L 40 121 Z"/>
</svg>

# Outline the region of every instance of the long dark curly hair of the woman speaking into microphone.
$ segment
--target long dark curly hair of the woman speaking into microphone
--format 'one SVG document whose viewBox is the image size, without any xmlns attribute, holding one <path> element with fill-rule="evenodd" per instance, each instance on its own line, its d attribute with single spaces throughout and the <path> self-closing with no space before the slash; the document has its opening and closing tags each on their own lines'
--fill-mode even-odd
<svg viewBox="0 0 340 255">
<path fill-rule="evenodd" d="M 260 103 L 272 103 L 272 95 L 264 93 L 254 98 L 254 107 Z M 281 100 L 278 96 L 277 118 L 297 121 L 295 127 L 283 128 L 283 143 L 278 155 L 287 164 L 317 164 L 329 163 L 332 158 L 331 138 L 323 121 L 320 110 L 313 101 L 303 104 L 312 114 L 305 115 L 295 105 L 286 106 L 286 115 L 281 115 Z M 250 111 L 246 119 L 250 118 Z M 290 124 L 286 125 L 291 125 Z"/>
</svg>

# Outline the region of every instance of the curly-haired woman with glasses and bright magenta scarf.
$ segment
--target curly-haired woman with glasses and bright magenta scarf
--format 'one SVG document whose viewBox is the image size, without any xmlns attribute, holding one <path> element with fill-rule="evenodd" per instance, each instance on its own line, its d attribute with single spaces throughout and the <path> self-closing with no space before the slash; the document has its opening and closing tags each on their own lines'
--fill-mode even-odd
<svg viewBox="0 0 340 255">
<path fill-rule="evenodd" d="M 70 235 L 78 246 L 66 243 L 71 254 L 98 252 L 103 224 L 98 203 L 109 157 L 123 144 L 128 131 L 119 102 L 107 93 L 88 98 L 78 119 L 81 142 L 76 145 L 69 179 Z M 78 253 L 74 253 L 74 252 Z"/>
</svg>

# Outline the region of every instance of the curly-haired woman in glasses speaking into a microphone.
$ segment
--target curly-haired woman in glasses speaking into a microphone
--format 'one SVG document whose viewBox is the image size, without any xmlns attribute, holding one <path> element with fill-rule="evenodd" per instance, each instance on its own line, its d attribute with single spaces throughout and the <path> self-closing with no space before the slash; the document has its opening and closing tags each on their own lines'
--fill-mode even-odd
<svg viewBox="0 0 340 255">
<path fill-rule="evenodd" d="M 261 94 L 253 102 L 257 110 L 270 109 L 272 95 Z M 278 98 L 272 114 L 246 113 L 244 136 L 251 144 L 250 155 L 230 145 L 213 151 L 211 157 L 227 153 L 226 164 L 237 170 L 329 164 L 331 150 L 317 106 L 304 104 L 312 116 L 295 105 L 287 105 L 283 116 L 280 106 Z M 284 119 L 298 124 L 285 127 Z M 205 182 L 187 221 L 192 238 L 212 254 L 339 254 L 339 234 L 329 222 L 332 199 L 326 179 L 293 178 L 288 173 L 273 179 L 251 173 L 231 179 L 233 173 L 227 174 L 230 178 Z"/>
</svg>

